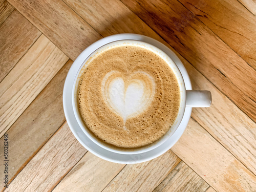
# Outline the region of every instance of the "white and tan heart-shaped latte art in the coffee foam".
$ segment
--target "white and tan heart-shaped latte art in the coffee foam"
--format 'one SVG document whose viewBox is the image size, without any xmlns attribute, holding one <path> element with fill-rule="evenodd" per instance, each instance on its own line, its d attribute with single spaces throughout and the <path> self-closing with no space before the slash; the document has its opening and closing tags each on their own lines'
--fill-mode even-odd
<svg viewBox="0 0 256 192">
<path fill-rule="evenodd" d="M 155 95 L 155 81 L 143 71 L 129 77 L 118 71 L 107 73 L 101 84 L 103 100 L 109 108 L 126 120 L 145 111 Z"/>
</svg>

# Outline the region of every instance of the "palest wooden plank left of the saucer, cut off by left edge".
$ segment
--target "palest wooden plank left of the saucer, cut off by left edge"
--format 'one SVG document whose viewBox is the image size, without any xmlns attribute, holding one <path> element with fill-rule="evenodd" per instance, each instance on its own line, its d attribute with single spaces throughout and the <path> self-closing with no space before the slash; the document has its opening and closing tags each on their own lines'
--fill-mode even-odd
<svg viewBox="0 0 256 192">
<path fill-rule="evenodd" d="M 41 35 L 0 83 L 0 137 L 25 111 L 68 57 Z"/>
</svg>

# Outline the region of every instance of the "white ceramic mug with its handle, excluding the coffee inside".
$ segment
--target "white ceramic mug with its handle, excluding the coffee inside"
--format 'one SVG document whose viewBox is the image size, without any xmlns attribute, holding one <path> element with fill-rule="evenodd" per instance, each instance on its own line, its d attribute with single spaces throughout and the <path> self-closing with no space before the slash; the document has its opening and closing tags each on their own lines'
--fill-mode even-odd
<svg viewBox="0 0 256 192">
<path fill-rule="evenodd" d="M 76 99 L 78 83 L 80 80 L 80 74 L 82 73 L 81 70 L 86 69 L 85 68 L 86 66 L 85 67 L 83 67 L 83 66 L 87 65 L 86 63 L 87 63 L 88 59 L 96 57 L 102 50 L 110 49 L 113 46 L 119 46 L 122 44 L 130 44 L 130 45 L 134 44 L 136 46 L 146 48 L 148 50 L 153 51 L 154 53 L 159 55 L 162 59 L 164 59 L 168 63 L 169 67 L 172 69 L 172 71 L 175 73 L 175 75 L 177 77 L 177 80 L 178 80 L 178 83 L 180 86 L 180 94 L 181 94 L 181 102 L 180 102 L 178 116 L 177 116 L 174 124 L 172 125 L 172 127 L 170 127 L 169 131 L 161 139 L 154 142 L 153 144 L 147 145 L 145 147 L 140 147 L 137 149 L 132 149 L 132 150 L 130 150 L 130 149 L 123 150 L 123 149 L 113 148 L 113 147 L 110 147 L 109 145 L 105 144 L 103 141 L 99 140 L 98 138 L 96 138 L 87 129 L 86 125 L 83 123 L 83 120 L 80 117 L 80 114 L 78 112 L 78 105 L 77 105 L 77 99 Z M 180 70 L 177 67 L 176 63 L 164 51 L 160 50 L 159 48 L 157 48 L 151 44 L 148 44 L 143 41 L 138 41 L 138 40 L 117 40 L 117 41 L 110 42 L 109 44 L 103 45 L 102 47 L 95 50 L 90 56 L 88 56 L 84 60 L 84 62 L 80 66 L 80 69 L 78 70 L 78 72 L 76 74 L 75 81 L 73 84 L 73 90 L 72 90 L 73 111 L 74 111 L 76 120 L 77 120 L 79 126 L 81 127 L 82 131 L 84 132 L 84 134 L 86 134 L 87 137 L 90 138 L 91 141 L 93 141 L 100 147 L 104 148 L 105 150 L 108 150 L 108 151 L 111 151 L 114 153 L 118 153 L 118 154 L 141 154 L 141 153 L 145 153 L 145 152 L 153 150 L 154 148 L 163 144 L 167 139 L 169 139 L 175 133 L 175 131 L 178 129 L 180 122 L 183 118 L 186 106 L 202 108 L 202 107 L 208 107 L 208 106 L 210 106 L 210 104 L 211 104 L 211 93 L 209 91 L 194 91 L 194 90 L 186 91 L 183 77 L 182 77 Z"/>
</svg>

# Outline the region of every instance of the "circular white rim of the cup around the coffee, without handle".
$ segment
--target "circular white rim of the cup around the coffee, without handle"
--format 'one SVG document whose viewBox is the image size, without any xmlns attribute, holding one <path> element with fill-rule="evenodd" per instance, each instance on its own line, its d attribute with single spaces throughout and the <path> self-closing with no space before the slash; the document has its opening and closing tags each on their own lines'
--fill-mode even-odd
<svg viewBox="0 0 256 192">
<path fill-rule="evenodd" d="M 139 43 L 141 45 L 145 45 L 145 46 L 149 46 L 151 48 L 154 48 L 154 50 L 159 51 L 165 58 L 168 59 L 168 64 L 169 67 L 171 67 L 171 69 L 175 72 L 175 75 L 178 79 L 179 82 L 179 86 L 180 86 L 180 90 L 181 90 L 181 102 L 180 102 L 180 108 L 179 108 L 179 112 L 178 112 L 178 117 L 176 118 L 174 124 L 172 125 L 172 127 L 170 127 L 170 129 L 168 130 L 168 132 L 161 137 L 159 140 L 155 141 L 154 143 L 150 144 L 150 145 L 146 145 L 146 146 L 142 146 L 139 148 L 132 148 L 132 149 L 122 149 L 122 148 L 118 148 L 118 147 L 110 147 L 108 144 L 105 144 L 103 141 L 100 141 L 99 139 L 96 139 L 96 137 L 87 130 L 87 128 L 85 127 L 82 118 L 79 115 L 78 112 L 78 108 L 77 108 L 77 99 L 76 99 L 76 92 L 77 92 L 77 83 L 78 83 L 78 76 L 83 68 L 83 66 L 85 65 L 85 63 L 89 60 L 89 58 L 91 58 L 92 56 L 94 56 L 95 54 L 97 54 L 100 50 L 105 49 L 106 47 L 113 45 L 113 44 L 118 44 L 120 42 L 136 42 Z M 148 47 L 147 47 L 148 48 Z M 168 48 L 169 49 L 169 48 Z M 183 76 L 178 68 L 178 66 L 176 65 L 176 63 L 173 61 L 172 58 L 170 58 L 163 50 L 161 50 L 160 48 L 153 46 L 151 44 L 149 44 L 148 42 L 144 42 L 141 40 L 134 40 L 134 39 L 125 39 L 125 40 L 114 40 L 111 42 L 108 42 L 107 44 L 102 45 L 101 47 L 99 47 L 98 49 L 94 50 L 87 58 L 84 59 L 84 61 L 82 62 L 79 70 L 77 71 L 76 77 L 75 77 L 75 81 L 73 82 L 73 88 L 72 88 L 72 107 L 73 107 L 73 112 L 75 115 L 75 118 L 81 128 L 81 130 L 84 132 L 84 134 L 86 134 L 91 141 L 93 141 L 95 144 L 97 144 L 98 146 L 104 148 L 105 150 L 114 152 L 114 153 L 118 153 L 118 154 L 140 154 L 140 153 L 144 153 L 144 152 L 148 152 L 153 150 L 154 148 L 160 146 L 162 143 L 164 143 L 166 140 L 168 140 L 178 129 L 179 124 L 183 118 L 184 115 L 184 111 L 185 111 L 185 103 L 186 103 L 186 90 L 185 90 L 185 83 L 184 83 L 184 79 Z"/>
</svg>

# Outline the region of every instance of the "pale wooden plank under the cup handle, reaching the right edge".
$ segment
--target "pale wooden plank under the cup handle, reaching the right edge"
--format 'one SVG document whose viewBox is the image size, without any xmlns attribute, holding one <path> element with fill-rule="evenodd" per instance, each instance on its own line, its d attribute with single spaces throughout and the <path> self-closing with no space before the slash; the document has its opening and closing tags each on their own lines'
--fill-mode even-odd
<svg viewBox="0 0 256 192">
<path fill-rule="evenodd" d="M 209 90 L 210 108 L 195 108 L 192 117 L 256 175 L 256 124 L 194 67 L 183 62 L 195 90 Z"/>
</svg>

